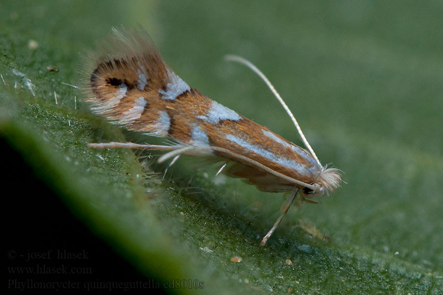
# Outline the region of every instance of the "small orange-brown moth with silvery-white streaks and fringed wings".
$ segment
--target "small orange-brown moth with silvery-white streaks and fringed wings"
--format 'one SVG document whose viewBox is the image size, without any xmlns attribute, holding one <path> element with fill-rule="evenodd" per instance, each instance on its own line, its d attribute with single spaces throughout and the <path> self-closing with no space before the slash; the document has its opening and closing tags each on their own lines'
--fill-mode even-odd
<svg viewBox="0 0 443 295">
<path fill-rule="evenodd" d="M 221 171 L 244 178 L 265 192 L 290 192 L 282 214 L 263 237 L 264 245 L 298 194 L 302 201 L 338 188 L 338 169 L 323 167 L 297 121 L 268 79 L 248 60 L 226 59 L 249 66 L 284 106 L 306 148 L 228 109 L 191 88 L 164 62 L 146 32 L 113 29 L 99 53 L 86 55 L 84 71 L 87 102 L 93 113 L 128 130 L 167 138 L 169 144 L 89 144 L 91 148 L 142 148 L 164 150 L 158 162 L 182 154 L 223 158 Z"/>
</svg>

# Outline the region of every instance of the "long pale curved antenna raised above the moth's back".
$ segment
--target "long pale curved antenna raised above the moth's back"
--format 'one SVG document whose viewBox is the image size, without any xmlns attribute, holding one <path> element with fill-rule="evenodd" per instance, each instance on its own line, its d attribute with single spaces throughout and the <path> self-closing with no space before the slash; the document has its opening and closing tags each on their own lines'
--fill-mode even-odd
<svg viewBox="0 0 443 295">
<path fill-rule="evenodd" d="M 297 120 L 295 119 L 294 115 L 292 115 L 292 112 L 287 107 L 285 101 L 280 96 L 279 92 L 277 92 L 277 90 L 274 88 L 274 86 L 272 86 L 271 82 L 269 82 L 268 78 L 266 78 L 266 76 L 255 65 L 253 65 L 253 63 L 251 61 L 249 61 L 247 59 L 244 59 L 244 58 L 236 56 L 236 55 L 230 55 L 230 54 L 225 55 L 224 59 L 228 60 L 228 61 L 237 61 L 237 62 L 243 63 L 244 65 L 246 65 L 247 67 L 252 69 L 255 72 L 255 74 L 257 74 L 266 83 L 266 85 L 269 87 L 269 89 L 271 89 L 272 93 L 274 93 L 275 97 L 277 97 L 277 99 L 280 101 L 283 108 L 285 109 L 286 113 L 291 118 L 291 120 L 294 123 L 295 128 L 297 128 L 298 134 L 300 134 L 300 137 L 301 137 L 303 143 L 305 144 L 306 148 L 309 149 L 309 151 L 313 155 L 314 159 L 316 159 L 318 165 L 321 166 L 320 161 L 318 161 L 316 153 L 314 152 L 314 149 L 312 149 L 311 146 L 309 145 L 308 140 L 306 139 L 305 135 L 301 131 L 301 128 L 298 125 Z"/>
</svg>

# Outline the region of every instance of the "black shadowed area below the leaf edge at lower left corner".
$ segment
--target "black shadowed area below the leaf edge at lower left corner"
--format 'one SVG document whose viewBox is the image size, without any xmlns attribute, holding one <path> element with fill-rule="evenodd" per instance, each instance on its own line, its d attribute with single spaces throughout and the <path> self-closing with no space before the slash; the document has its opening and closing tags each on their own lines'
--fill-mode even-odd
<svg viewBox="0 0 443 295">
<path fill-rule="evenodd" d="M 117 291 L 158 289 L 77 219 L 0 140 L 5 202 L 5 285 L 12 290 Z M 153 290 L 154 291 L 154 290 Z"/>
</svg>

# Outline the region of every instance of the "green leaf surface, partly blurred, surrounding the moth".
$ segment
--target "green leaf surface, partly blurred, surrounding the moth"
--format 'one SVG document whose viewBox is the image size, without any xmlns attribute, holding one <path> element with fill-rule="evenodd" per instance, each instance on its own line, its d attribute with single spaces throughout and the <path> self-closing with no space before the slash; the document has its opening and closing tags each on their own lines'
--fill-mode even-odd
<svg viewBox="0 0 443 295">
<path fill-rule="evenodd" d="M 2 138 L 142 274 L 204 282 L 167 292 L 443 293 L 442 1 L 0 6 Z M 90 115 L 82 92 L 63 84 L 80 86 L 79 52 L 111 27 L 138 24 L 191 87 L 301 145 L 264 83 L 222 57 L 251 60 L 346 184 L 319 205 L 293 206 L 260 247 L 282 194 L 215 178 L 219 167 L 187 168 L 193 159 L 186 158 L 161 181 L 164 168 L 147 158 L 86 148 L 140 141 Z M 20 175 L 25 184 L 27 175 Z"/>
</svg>

